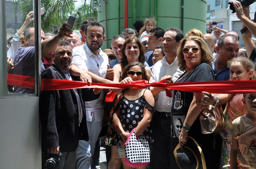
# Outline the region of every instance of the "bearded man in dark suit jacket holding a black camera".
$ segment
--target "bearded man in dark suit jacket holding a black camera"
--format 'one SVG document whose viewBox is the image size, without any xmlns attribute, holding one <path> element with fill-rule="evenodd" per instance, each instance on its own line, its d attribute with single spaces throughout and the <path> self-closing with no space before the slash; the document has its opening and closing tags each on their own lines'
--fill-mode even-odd
<svg viewBox="0 0 256 169">
<path fill-rule="evenodd" d="M 72 61 L 72 46 L 60 41 L 52 53 L 53 64 L 42 72 L 42 79 L 65 79 L 78 81 L 70 76 L 68 68 Z M 102 89 L 43 90 L 39 96 L 39 114 L 43 132 L 43 150 L 50 154 L 62 152 L 63 157 L 54 168 L 75 168 L 78 140 L 89 140 L 84 101 L 100 96 Z M 80 125 L 80 126 L 79 126 Z"/>
</svg>

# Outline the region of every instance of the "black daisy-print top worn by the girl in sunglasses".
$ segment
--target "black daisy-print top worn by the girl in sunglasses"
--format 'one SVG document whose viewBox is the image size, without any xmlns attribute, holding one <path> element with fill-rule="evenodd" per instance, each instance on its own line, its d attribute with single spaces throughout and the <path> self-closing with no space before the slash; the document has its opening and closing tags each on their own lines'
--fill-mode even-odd
<svg viewBox="0 0 256 169">
<path fill-rule="evenodd" d="M 144 91 L 145 92 L 145 91 Z M 136 100 L 128 100 L 124 96 L 119 102 L 120 106 L 120 121 L 123 126 L 124 131 L 131 132 L 135 127 L 138 126 L 140 121 L 143 118 L 144 106 L 147 109 L 155 111 L 154 107 L 152 107 L 146 99 L 144 98 L 144 94 L 140 96 Z M 152 143 L 154 140 L 152 139 L 152 129 L 149 124 L 146 130 L 143 132 L 146 136 L 148 143 Z M 122 137 L 119 133 L 116 133 L 116 144 L 121 144 Z"/>
</svg>

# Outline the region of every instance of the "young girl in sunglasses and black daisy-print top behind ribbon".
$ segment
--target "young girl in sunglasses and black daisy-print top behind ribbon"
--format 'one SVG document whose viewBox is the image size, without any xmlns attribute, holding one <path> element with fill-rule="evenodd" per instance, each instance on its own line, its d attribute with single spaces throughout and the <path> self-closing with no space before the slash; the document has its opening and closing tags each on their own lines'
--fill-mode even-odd
<svg viewBox="0 0 256 169">
<path fill-rule="evenodd" d="M 130 83 L 138 80 L 148 81 L 148 76 L 143 64 L 140 62 L 132 62 L 125 67 L 121 83 Z M 131 166 L 126 165 L 124 162 L 124 143 L 135 127 L 136 136 L 143 133 L 149 144 L 153 142 L 151 138 L 152 130 L 150 128 L 150 122 L 155 101 L 151 91 L 148 89 L 124 89 L 117 97 L 120 98 L 120 102 L 117 103 L 115 108 L 117 110 L 113 114 L 113 122 L 117 130 L 116 146 L 118 157 L 121 158 L 124 169 L 132 169 Z M 140 169 L 146 168 L 147 165 L 140 167 Z"/>
</svg>

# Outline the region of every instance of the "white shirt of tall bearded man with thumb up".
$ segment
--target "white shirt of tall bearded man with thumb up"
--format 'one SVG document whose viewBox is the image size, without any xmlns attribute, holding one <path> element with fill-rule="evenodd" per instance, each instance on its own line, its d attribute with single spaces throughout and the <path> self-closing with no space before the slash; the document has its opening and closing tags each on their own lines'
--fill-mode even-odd
<svg viewBox="0 0 256 169">
<path fill-rule="evenodd" d="M 97 57 L 92 53 L 87 44 L 77 46 L 73 49 L 73 63 L 80 69 L 87 68 L 88 71 L 105 78 L 107 74 L 108 56 L 100 49 Z M 104 106 L 103 106 L 104 91 L 100 93 L 100 97 L 96 100 L 85 102 L 86 120 L 92 121 L 94 113 L 95 122 L 103 120 Z"/>
</svg>

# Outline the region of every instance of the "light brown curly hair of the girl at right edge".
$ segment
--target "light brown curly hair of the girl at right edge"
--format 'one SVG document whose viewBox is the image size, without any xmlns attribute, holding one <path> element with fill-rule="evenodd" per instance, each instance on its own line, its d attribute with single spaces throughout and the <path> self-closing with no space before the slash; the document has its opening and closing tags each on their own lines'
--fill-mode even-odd
<svg viewBox="0 0 256 169">
<path fill-rule="evenodd" d="M 227 67 L 230 68 L 231 64 L 235 62 L 241 63 L 244 66 L 244 68 L 246 68 L 247 72 L 253 70 L 253 74 L 250 77 L 250 80 L 256 80 L 255 66 L 252 60 L 250 60 L 247 57 L 236 57 L 227 62 Z"/>
</svg>

